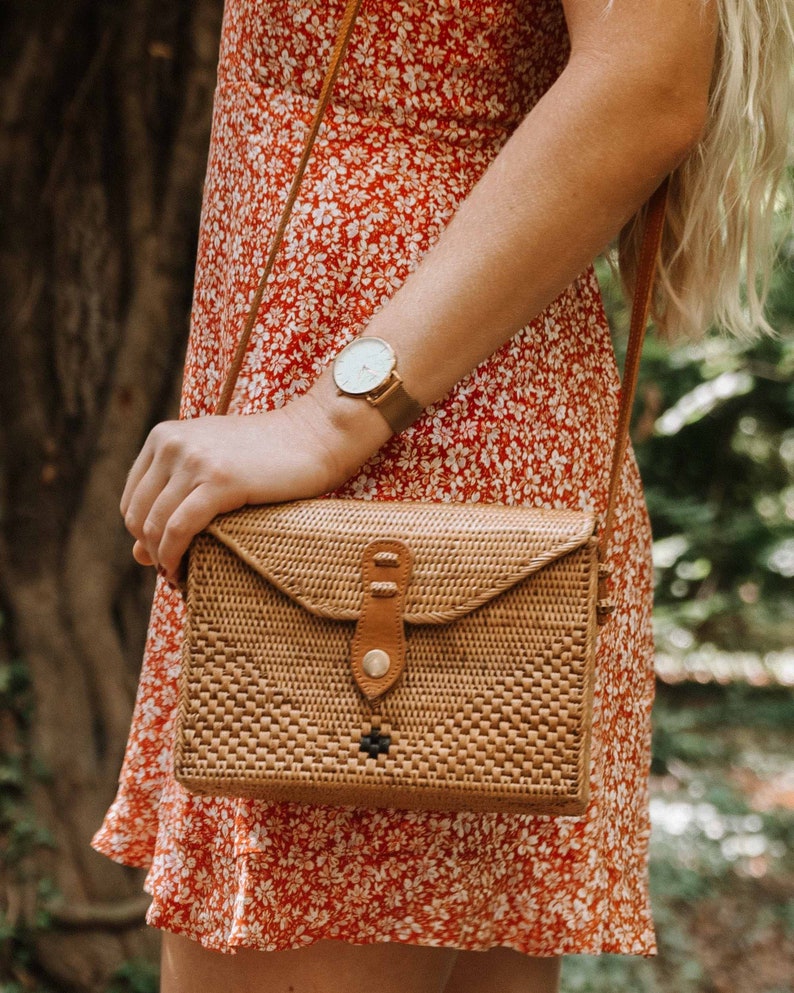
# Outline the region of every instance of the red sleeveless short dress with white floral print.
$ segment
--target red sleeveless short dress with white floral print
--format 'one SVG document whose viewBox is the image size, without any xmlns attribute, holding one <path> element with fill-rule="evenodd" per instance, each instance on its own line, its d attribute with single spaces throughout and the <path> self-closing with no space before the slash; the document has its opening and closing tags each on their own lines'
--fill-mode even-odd
<svg viewBox="0 0 794 993">
<path fill-rule="evenodd" d="M 342 9 L 227 0 L 186 417 L 216 403 Z M 278 407 L 311 384 L 433 244 L 567 57 L 560 0 L 365 0 L 233 409 Z M 340 492 L 601 510 L 618 392 L 588 271 Z M 189 795 L 171 774 L 181 604 L 161 585 L 118 796 L 94 844 L 149 867 L 150 923 L 213 949 L 332 938 L 651 953 L 648 552 L 629 458 L 584 816 Z"/>
</svg>

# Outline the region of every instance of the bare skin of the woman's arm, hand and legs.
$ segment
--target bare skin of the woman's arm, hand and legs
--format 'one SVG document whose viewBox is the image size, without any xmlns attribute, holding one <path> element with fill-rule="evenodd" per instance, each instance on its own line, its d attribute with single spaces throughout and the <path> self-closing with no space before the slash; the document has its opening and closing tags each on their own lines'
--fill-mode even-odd
<svg viewBox="0 0 794 993">
<path fill-rule="evenodd" d="M 364 331 L 392 344 L 422 405 L 443 397 L 568 286 L 703 127 L 714 0 L 613 0 L 608 12 L 606 0 L 563 4 L 568 66 Z M 133 555 L 173 579 L 191 538 L 216 514 L 335 489 L 389 434 L 377 410 L 338 396 L 328 371 L 276 411 L 160 424 L 121 500 Z M 557 974 L 553 959 L 504 949 L 324 942 L 221 956 L 167 935 L 163 991 L 200 983 L 203 993 L 351 993 L 375 977 L 381 993 L 553 993 Z"/>
</svg>

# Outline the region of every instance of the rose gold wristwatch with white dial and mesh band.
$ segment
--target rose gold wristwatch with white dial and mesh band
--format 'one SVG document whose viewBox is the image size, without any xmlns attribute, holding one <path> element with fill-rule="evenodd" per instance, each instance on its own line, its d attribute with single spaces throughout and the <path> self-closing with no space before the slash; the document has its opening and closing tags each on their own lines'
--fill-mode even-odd
<svg viewBox="0 0 794 993">
<path fill-rule="evenodd" d="M 333 377 L 340 394 L 366 400 L 395 434 L 422 414 L 403 386 L 394 349 L 383 338 L 363 335 L 345 345 L 334 359 Z"/>
</svg>

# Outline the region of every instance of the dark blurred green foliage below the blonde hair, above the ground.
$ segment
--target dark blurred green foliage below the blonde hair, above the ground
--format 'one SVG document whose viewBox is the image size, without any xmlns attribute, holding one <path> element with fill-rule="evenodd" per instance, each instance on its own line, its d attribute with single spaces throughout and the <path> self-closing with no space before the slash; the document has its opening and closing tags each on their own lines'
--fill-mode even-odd
<svg viewBox="0 0 794 993">
<path fill-rule="evenodd" d="M 612 324 L 627 313 L 606 265 Z M 663 650 L 794 645 L 794 240 L 769 297 L 777 337 L 649 335 L 635 413 Z M 617 335 L 621 350 L 623 336 Z"/>
</svg>

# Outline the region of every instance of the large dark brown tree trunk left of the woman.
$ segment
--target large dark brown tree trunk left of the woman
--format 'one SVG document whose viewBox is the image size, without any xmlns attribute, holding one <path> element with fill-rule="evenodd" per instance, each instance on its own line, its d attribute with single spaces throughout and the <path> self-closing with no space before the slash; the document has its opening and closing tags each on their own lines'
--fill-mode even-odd
<svg viewBox="0 0 794 993">
<path fill-rule="evenodd" d="M 29 797 L 51 835 L 2 860 L 2 894 L 35 934 L 32 974 L 64 990 L 105 990 L 154 951 L 140 873 L 88 842 L 115 789 L 151 595 L 118 499 L 175 410 L 221 7 L 2 9 L 0 598 L 5 654 L 33 691 Z M 34 928 L 44 878 L 56 896 Z M 7 953 L 0 968 L 18 967 Z"/>
</svg>

